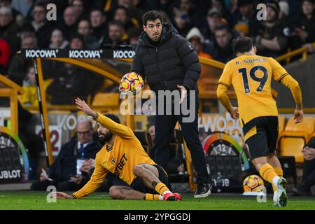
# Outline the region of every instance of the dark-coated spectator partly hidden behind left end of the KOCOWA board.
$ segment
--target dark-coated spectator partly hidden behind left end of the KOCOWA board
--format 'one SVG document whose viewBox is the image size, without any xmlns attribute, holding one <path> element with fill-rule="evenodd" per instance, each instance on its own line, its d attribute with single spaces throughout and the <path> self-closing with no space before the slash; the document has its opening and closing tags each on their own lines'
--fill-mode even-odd
<svg viewBox="0 0 315 224">
<path fill-rule="evenodd" d="M 22 49 L 33 49 L 37 48 L 37 39 L 34 34 L 27 34 L 21 36 L 22 38 Z M 27 74 L 27 68 L 33 66 L 34 59 L 25 58 L 22 54 L 16 54 L 12 57 L 8 67 L 8 78 L 18 85 L 23 85 L 23 80 Z"/>
</svg>

